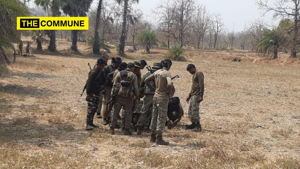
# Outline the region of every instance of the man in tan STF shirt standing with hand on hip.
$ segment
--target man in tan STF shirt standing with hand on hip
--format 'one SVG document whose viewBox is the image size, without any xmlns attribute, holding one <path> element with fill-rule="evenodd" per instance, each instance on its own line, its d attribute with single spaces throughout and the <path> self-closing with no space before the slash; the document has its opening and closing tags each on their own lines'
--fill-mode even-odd
<svg viewBox="0 0 300 169">
<path fill-rule="evenodd" d="M 163 69 L 156 71 L 145 80 L 145 84 L 150 90 L 155 90 L 153 98 L 152 120 L 150 125 L 151 142 L 159 145 L 169 145 L 169 142 L 164 141 L 162 134 L 165 128 L 165 122 L 168 111 L 168 101 L 172 93 L 172 77 L 169 72 L 172 61 L 165 59 L 162 62 Z M 150 83 L 155 81 L 156 88 Z"/>
</svg>

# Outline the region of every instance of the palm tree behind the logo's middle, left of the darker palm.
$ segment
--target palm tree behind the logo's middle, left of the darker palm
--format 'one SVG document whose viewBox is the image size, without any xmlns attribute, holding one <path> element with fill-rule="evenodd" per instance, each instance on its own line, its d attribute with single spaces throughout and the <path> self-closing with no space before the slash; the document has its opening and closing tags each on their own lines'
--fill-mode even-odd
<svg viewBox="0 0 300 169">
<path fill-rule="evenodd" d="M 43 7 L 45 11 L 51 9 L 52 17 L 59 17 L 61 15 L 61 12 L 59 10 L 67 5 L 67 0 L 35 0 L 35 4 Z M 50 30 L 50 43 L 48 46 L 48 49 L 50 51 L 56 50 L 55 41 L 55 30 Z"/>
</svg>

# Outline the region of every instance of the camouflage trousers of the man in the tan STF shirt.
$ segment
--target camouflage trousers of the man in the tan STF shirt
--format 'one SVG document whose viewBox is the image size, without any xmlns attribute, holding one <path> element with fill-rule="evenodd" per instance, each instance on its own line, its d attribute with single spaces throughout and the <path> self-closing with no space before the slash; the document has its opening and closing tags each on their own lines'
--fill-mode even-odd
<svg viewBox="0 0 300 169">
<path fill-rule="evenodd" d="M 163 133 L 168 112 L 168 100 L 153 98 L 153 111 L 150 129 L 157 133 Z"/>
</svg>

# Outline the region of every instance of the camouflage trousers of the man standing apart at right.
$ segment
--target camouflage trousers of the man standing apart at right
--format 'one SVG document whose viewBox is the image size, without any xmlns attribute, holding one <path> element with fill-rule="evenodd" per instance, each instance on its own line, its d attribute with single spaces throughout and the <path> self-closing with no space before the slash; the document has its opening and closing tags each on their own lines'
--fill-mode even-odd
<svg viewBox="0 0 300 169">
<path fill-rule="evenodd" d="M 200 120 L 200 115 L 199 115 L 199 104 L 200 102 L 197 102 L 199 100 L 200 95 L 193 95 L 190 98 L 190 107 L 188 109 L 188 118 L 190 121 L 196 122 Z"/>
</svg>

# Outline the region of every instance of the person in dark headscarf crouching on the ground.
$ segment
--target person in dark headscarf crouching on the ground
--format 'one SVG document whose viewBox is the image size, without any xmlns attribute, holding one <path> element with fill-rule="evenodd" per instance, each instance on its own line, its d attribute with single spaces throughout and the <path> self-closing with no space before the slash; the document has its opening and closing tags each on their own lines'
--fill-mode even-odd
<svg viewBox="0 0 300 169">
<path fill-rule="evenodd" d="M 182 115 L 183 115 L 183 108 L 180 104 L 179 97 L 170 98 L 168 103 L 166 125 L 168 123 L 171 123 L 172 126 L 176 125 L 181 120 Z"/>
</svg>

